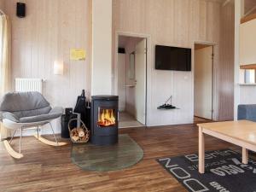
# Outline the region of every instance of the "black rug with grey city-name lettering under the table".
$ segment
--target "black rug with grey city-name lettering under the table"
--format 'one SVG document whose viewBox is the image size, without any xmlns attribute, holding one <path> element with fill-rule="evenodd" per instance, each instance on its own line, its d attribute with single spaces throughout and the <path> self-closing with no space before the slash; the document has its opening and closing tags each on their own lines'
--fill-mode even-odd
<svg viewBox="0 0 256 192">
<path fill-rule="evenodd" d="M 241 154 L 229 148 L 207 151 L 206 172 L 198 172 L 198 154 L 157 160 L 191 192 L 256 192 L 256 161 L 241 163 Z"/>
</svg>

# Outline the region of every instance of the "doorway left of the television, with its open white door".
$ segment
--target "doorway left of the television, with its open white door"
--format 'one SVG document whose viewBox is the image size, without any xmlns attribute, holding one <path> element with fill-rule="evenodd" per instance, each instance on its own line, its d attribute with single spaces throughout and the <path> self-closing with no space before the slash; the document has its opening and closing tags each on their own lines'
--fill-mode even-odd
<svg viewBox="0 0 256 192">
<path fill-rule="evenodd" d="M 119 128 L 146 125 L 147 38 L 118 37 Z"/>
</svg>

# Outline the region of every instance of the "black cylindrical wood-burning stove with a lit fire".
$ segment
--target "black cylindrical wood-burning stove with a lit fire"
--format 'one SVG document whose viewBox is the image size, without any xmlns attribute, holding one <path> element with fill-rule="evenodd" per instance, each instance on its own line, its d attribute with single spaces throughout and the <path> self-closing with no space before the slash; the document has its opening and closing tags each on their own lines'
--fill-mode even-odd
<svg viewBox="0 0 256 192">
<path fill-rule="evenodd" d="M 118 96 L 91 96 L 91 143 L 118 143 Z"/>
</svg>

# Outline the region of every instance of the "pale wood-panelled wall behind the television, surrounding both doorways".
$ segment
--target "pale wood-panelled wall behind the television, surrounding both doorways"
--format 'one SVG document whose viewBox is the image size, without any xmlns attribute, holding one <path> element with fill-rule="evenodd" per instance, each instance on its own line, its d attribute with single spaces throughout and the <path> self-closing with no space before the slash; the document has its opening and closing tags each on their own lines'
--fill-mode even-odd
<svg viewBox="0 0 256 192">
<path fill-rule="evenodd" d="M 149 125 L 171 125 L 193 122 L 194 72 L 171 72 L 154 69 L 154 46 L 164 44 L 194 49 L 195 42 L 215 45 L 216 73 L 214 91 L 215 117 L 218 119 L 218 77 L 221 4 L 204 0 L 113 0 L 113 32 L 132 32 L 151 37 L 152 60 Z M 114 39 L 113 39 L 114 44 Z M 192 51 L 194 53 L 194 51 Z M 194 60 L 192 56 L 192 60 Z M 194 63 L 194 61 L 193 61 Z M 223 70 L 223 69 L 221 69 Z M 227 69 L 232 71 L 232 69 Z M 232 71 L 233 72 L 233 71 Z M 230 80 L 230 79 L 229 79 Z M 232 93 L 230 93 L 230 97 Z M 180 110 L 160 111 L 157 106 L 173 96 L 172 104 Z M 227 106 L 230 113 L 230 106 Z M 222 108 L 221 110 L 227 110 Z M 232 107 L 233 108 L 233 107 Z M 225 112 L 224 112 L 225 113 Z"/>
</svg>

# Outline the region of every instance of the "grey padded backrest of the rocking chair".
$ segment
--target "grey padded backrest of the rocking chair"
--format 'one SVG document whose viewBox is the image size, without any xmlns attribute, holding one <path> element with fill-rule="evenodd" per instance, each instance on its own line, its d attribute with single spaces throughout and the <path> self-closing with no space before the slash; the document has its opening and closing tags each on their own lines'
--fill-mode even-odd
<svg viewBox="0 0 256 192">
<path fill-rule="evenodd" d="M 14 113 L 17 117 L 30 117 L 49 113 L 49 102 L 39 92 L 14 92 L 3 96 L 0 111 Z"/>
</svg>

